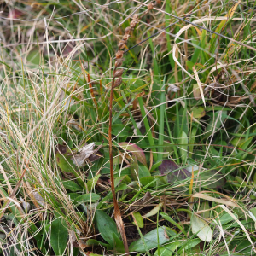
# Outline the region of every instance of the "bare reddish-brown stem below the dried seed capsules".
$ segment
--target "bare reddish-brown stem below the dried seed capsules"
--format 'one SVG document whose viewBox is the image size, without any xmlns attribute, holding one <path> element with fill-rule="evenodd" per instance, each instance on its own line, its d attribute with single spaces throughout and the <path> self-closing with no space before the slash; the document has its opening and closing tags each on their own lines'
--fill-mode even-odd
<svg viewBox="0 0 256 256">
<path fill-rule="evenodd" d="M 114 68 L 113 73 L 115 73 L 116 68 Z M 125 246 L 125 253 L 129 255 L 129 247 L 125 235 L 125 227 L 122 219 L 122 215 L 119 209 L 118 202 L 115 197 L 114 190 L 114 177 L 113 177 L 113 145 L 112 145 L 112 107 L 113 107 L 113 89 L 114 89 L 114 78 L 112 80 L 111 90 L 110 90 L 110 99 L 109 99 L 109 126 L 108 126 L 108 143 L 109 143 L 109 162 L 110 162 L 110 181 L 111 181 L 111 190 L 113 195 L 113 207 L 114 207 L 114 219 L 119 228 L 122 240 Z"/>
</svg>

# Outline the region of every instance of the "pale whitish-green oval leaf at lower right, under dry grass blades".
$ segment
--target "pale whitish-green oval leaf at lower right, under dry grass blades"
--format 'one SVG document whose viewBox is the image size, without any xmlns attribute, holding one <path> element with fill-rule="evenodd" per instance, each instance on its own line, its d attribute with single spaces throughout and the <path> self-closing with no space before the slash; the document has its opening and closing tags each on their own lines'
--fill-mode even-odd
<svg viewBox="0 0 256 256">
<path fill-rule="evenodd" d="M 192 233 L 198 236 L 201 241 L 212 241 L 212 229 L 207 222 L 195 214 L 192 215 L 191 220 Z"/>
</svg>

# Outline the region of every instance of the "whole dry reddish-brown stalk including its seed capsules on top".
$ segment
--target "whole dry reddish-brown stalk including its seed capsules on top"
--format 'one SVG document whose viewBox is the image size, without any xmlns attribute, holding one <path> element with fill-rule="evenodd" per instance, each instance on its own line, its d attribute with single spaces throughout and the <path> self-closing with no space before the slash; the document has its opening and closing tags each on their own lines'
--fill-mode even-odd
<svg viewBox="0 0 256 256">
<path fill-rule="evenodd" d="M 125 48 L 128 39 L 130 38 L 131 32 L 134 30 L 135 26 L 137 25 L 139 19 L 141 19 L 144 15 L 148 14 L 148 12 L 154 8 L 157 3 L 161 3 L 161 0 L 156 0 L 155 2 L 148 3 L 148 9 L 141 15 L 140 17 L 135 14 L 131 20 L 130 26 L 125 28 L 125 35 L 123 36 L 122 40 L 119 41 L 118 44 L 118 51 L 116 52 L 116 61 L 114 63 L 113 69 L 113 80 L 110 90 L 110 98 L 109 98 L 109 126 L 108 126 L 108 143 L 109 143 L 109 162 L 110 162 L 110 181 L 111 181 L 111 190 L 113 195 L 113 207 L 114 207 L 114 219 L 119 228 L 119 232 L 122 236 L 122 240 L 125 246 L 125 253 L 129 255 L 129 247 L 125 235 L 125 226 L 122 219 L 122 214 L 119 209 L 119 205 L 115 196 L 115 189 L 114 189 L 114 177 L 113 177 L 113 143 L 112 143 L 112 112 L 113 112 L 113 90 L 116 87 L 119 87 L 122 84 L 122 74 L 124 73 L 124 69 L 119 67 L 123 64 L 123 55 L 124 51 L 122 49 Z"/>
</svg>

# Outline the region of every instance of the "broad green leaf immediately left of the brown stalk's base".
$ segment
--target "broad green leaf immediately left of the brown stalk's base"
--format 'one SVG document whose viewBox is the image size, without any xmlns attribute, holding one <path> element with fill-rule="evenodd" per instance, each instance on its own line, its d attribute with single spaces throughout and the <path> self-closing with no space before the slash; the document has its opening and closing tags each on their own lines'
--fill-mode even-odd
<svg viewBox="0 0 256 256">
<path fill-rule="evenodd" d="M 102 238 L 111 245 L 111 247 L 115 246 L 115 242 L 113 241 L 112 233 L 115 233 L 116 236 L 119 237 L 119 232 L 117 230 L 117 226 L 112 218 L 108 216 L 107 213 L 96 210 L 96 224 L 97 228 L 101 233 Z"/>
</svg>

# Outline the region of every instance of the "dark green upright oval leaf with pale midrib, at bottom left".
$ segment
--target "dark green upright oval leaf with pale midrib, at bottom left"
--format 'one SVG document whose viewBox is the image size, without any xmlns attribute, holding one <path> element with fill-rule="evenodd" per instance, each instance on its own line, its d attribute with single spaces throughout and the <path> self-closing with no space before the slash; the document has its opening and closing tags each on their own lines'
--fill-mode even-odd
<svg viewBox="0 0 256 256">
<path fill-rule="evenodd" d="M 50 245 L 55 255 L 62 255 L 67 247 L 68 231 L 63 218 L 55 218 L 51 223 Z"/>
</svg>

